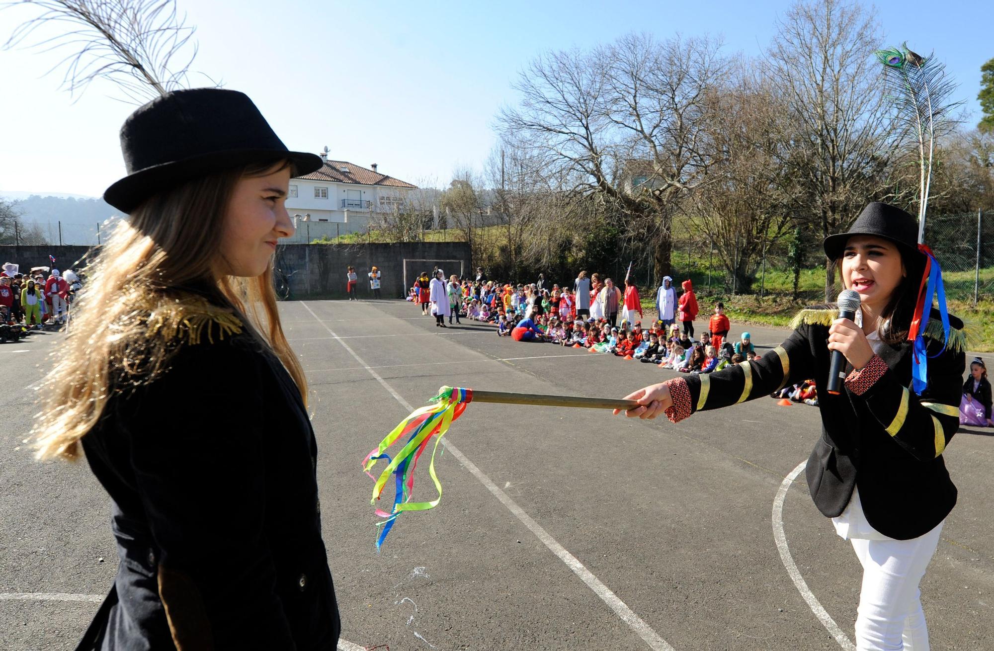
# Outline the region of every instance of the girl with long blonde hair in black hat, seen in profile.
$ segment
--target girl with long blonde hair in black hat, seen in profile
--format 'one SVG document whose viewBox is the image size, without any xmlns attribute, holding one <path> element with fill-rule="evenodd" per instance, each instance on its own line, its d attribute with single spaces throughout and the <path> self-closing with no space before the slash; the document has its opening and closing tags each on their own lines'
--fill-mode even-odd
<svg viewBox="0 0 994 651">
<path fill-rule="evenodd" d="M 110 495 L 120 564 L 80 648 L 331 651 L 307 383 L 272 284 L 288 182 L 321 160 L 215 88 L 138 108 L 121 145 L 104 198 L 130 217 L 87 269 L 35 431 Z"/>
</svg>

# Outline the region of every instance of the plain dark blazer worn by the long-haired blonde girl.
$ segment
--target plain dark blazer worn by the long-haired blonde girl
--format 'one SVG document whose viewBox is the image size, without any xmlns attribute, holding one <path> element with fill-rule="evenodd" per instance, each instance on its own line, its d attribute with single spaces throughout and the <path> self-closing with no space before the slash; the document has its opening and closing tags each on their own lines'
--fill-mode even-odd
<svg viewBox="0 0 994 651">
<path fill-rule="evenodd" d="M 214 339 L 83 436 L 120 563 L 81 649 L 337 647 L 307 412 L 251 336 Z"/>
</svg>

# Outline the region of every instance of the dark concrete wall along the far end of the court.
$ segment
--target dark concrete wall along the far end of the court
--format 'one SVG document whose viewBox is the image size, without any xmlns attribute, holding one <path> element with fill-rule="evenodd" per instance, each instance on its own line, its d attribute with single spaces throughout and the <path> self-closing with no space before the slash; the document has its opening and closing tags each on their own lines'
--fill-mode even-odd
<svg viewBox="0 0 994 651">
<path fill-rule="evenodd" d="M 0 245 L 0 263 L 21 265 L 21 272 L 32 266 L 51 266 L 49 255 L 56 258 L 59 269 L 79 268 L 76 264 L 89 250 L 88 246 L 12 246 Z M 405 263 L 405 260 L 408 260 Z M 416 261 L 415 261 L 416 260 Z M 446 276 L 469 275 L 469 245 L 464 242 L 416 242 L 405 244 L 281 244 L 276 249 L 277 269 L 286 275 L 290 298 L 345 298 L 345 274 L 348 265 L 359 274 L 358 294 L 369 298 L 370 267 L 380 267 L 381 294 L 384 298 L 407 295 L 407 286 L 420 271 L 431 272 L 434 264 Z"/>
</svg>

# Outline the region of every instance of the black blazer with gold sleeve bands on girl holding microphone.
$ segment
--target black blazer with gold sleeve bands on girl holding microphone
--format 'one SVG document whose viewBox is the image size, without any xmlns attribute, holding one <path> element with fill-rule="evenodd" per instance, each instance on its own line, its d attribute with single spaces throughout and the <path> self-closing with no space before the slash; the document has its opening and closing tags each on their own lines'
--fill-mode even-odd
<svg viewBox="0 0 994 651">
<path fill-rule="evenodd" d="M 956 503 L 956 487 L 941 454 L 959 428 L 962 322 L 950 316 L 953 342 L 928 360 L 928 385 L 920 397 L 910 389 L 910 342 L 884 346 L 880 356 L 888 370 L 862 396 L 848 388 L 832 396 L 822 388 L 828 385 L 828 328 L 836 314 L 827 305 L 804 310 L 786 341 L 758 360 L 683 378 L 691 410 L 728 407 L 813 378 L 822 433 L 806 475 L 818 510 L 828 517 L 841 515 L 859 486 L 867 521 L 877 531 L 898 540 L 916 538 Z M 925 338 L 930 355 L 942 348 L 934 336 L 937 318 L 932 310 L 931 336 Z"/>
</svg>

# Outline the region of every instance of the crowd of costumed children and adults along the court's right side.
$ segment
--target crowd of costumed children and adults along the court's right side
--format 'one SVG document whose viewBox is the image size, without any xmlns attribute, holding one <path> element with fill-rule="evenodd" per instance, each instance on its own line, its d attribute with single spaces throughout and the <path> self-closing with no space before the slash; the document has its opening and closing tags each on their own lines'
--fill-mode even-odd
<svg viewBox="0 0 994 651">
<path fill-rule="evenodd" d="M 643 327 L 643 308 L 635 284 L 625 281 L 623 288 L 617 287 L 610 278 L 601 280 L 596 273 L 587 278 L 581 271 L 572 288 L 550 284 L 542 275 L 538 282 L 516 285 L 456 275 L 445 278 L 440 269 L 433 275 L 420 273 L 408 300 L 424 314 L 447 318 L 450 325 L 461 323 L 463 318 L 489 323 L 496 326 L 498 336 L 514 341 L 585 349 L 678 373 L 711 373 L 758 357 L 748 332 L 735 344 L 726 341 L 731 323 L 722 302 L 714 306 L 709 329 L 695 338 L 693 322 L 699 306 L 689 279 L 681 283 L 684 291 L 679 297 L 671 286 L 672 278 L 663 279 L 656 292 L 658 318 Z M 431 295 L 446 297 L 447 304 L 438 305 Z M 814 380 L 785 387 L 771 397 L 781 404 L 818 405 Z"/>
</svg>

